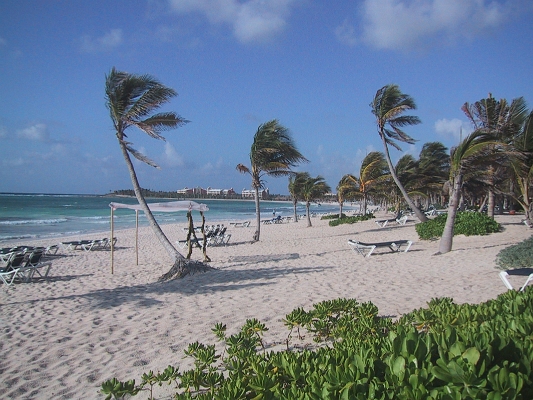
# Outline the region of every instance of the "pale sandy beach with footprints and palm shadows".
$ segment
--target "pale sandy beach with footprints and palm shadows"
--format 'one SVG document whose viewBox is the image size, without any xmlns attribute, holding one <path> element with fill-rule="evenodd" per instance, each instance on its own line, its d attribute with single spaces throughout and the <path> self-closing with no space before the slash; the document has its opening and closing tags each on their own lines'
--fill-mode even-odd
<svg viewBox="0 0 533 400">
<path fill-rule="evenodd" d="M 0 287 L 0 398 L 99 399 L 107 379 L 138 381 L 142 373 L 169 364 L 186 369 L 184 348 L 195 341 L 215 343 L 211 329 L 217 322 L 234 333 L 246 319 L 257 318 L 269 328 L 265 342 L 283 349 L 288 329 L 282 318 L 323 300 L 371 301 L 381 315 L 398 317 L 435 297 L 457 303 L 495 298 L 507 290 L 496 255 L 532 232 L 518 215 L 496 219 L 503 232 L 455 237 L 453 251 L 439 256 L 437 241 L 418 240 L 413 219 L 385 228 L 373 221 L 332 228 L 318 218 L 311 228 L 305 220 L 263 225 L 254 244 L 254 221 L 247 228 L 227 224 L 229 244 L 208 247 L 216 270 L 167 283 L 157 278 L 171 259 L 150 228 L 139 231 L 139 265 L 135 230 L 115 232 L 113 275 L 108 250 L 78 250 L 53 257 L 46 281 Z M 185 238 L 184 226 L 163 230 L 175 241 Z M 414 243 L 407 253 L 378 249 L 363 258 L 348 239 Z M 194 259 L 201 256 L 193 250 Z M 157 390 L 158 398 L 171 393 Z"/>
</svg>

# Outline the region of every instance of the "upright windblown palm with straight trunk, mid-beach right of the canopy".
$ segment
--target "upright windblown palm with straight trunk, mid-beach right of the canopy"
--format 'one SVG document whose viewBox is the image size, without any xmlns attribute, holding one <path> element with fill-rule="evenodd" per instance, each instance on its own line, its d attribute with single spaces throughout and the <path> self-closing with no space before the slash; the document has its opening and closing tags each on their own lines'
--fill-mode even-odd
<svg viewBox="0 0 533 400">
<path fill-rule="evenodd" d="M 253 237 L 254 242 L 259 240 L 261 230 L 259 189 L 264 188 L 263 176 L 290 175 L 293 173 L 290 168 L 300 162 L 307 162 L 307 159 L 296 148 L 287 128 L 280 125 L 275 119 L 259 125 L 250 150 L 250 167 L 244 164 L 237 165 L 239 172 L 250 174 L 252 177 L 257 218 L 257 227 Z"/>
</svg>

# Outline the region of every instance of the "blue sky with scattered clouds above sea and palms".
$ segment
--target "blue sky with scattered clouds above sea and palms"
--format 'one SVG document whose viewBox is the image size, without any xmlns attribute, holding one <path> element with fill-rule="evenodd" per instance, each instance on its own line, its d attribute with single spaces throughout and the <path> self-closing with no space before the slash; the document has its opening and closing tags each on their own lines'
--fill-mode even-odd
<svg viewBox="0 0 533 400">
<path fill-rule="evenodd" d="M 131 188 L 105 107 L 114 66 L 179 96 L 190 120 L 167 141 L 131 131 L 161 169 L 142 187 L 250 187 L 257 127 L 278 119 L 333 188 L 382 150 L 369 103 L 395 83 L 411 95 L 422 145 L 471 130 L 461 106 L 492 93 L 533 107 L 530 0 L 130 0 L 0 3 L 0 192 L 105 194 Z M 267 178 L 287 193 L 287 178 Z"/>
</svg>

